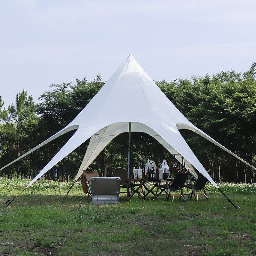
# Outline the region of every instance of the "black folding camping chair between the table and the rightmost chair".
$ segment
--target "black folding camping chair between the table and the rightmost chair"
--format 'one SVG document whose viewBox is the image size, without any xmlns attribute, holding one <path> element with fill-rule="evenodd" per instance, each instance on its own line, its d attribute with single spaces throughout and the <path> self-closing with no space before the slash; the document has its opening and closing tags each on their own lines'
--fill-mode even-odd
<svg viewBox="0 0 256 256">
<path fill-rule="evenodd" d="M 160 180 L 158 183 L 158 187 L 156 189 L 156 194 L 154 199 L 158 199 L 158 196 L 167 196 L 167 199 L 170 197 L 172 198 L 172 202 L 174 200 L 174 196 L 179 196 L 179 200 L 183 198 L 184 201 L 186 201 L 184 193 L 183 193 L 183 187 L 185 185 L 187 176 L 188 176 L 189 170 L 186 172 L 178 172 L 172 181 L 167 180 Z M 161 181 L 165 182 L 165 185 L 161 185 Z M 160 193 L 158 191 L 160 190 Z M 180 190 L 180 195 L 171 195 L 171 191 Z"/>
</svg>

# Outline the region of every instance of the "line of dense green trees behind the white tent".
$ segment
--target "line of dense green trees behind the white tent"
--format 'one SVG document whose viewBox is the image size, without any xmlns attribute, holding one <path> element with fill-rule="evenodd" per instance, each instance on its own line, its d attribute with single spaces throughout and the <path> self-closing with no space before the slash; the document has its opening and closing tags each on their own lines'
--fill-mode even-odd
<svg viewBox="0 0 256 256">
<path fill-rule="evenodd" d="M 243 72 L 223 71 L 215 75 L 193 76 L 156 84 L 180 112 L 213 139 L 255 166 L 256 162 L 256 62 Z M 90 102 L 104 85 L 101 76 L 92 81 L 76 79 L 75 84 L 52 84 L 35 104 L 24 90 L 16 94 L 15 103 L 4 108 L 0 96 L 0 167 L 60 131 Z M 53 140 L 0 172 L 0 176 L 33 178 L 73 135 L 74 131 Z M 199 161 L 211 168 L 214 181 L 254 183 L 252 168 L 224 152 L 208 140 L 188 130 L 180 130 Z M 60 161 L 60 181 L 73 179 L 80 167 L 89 140 Z M 127 168 L 128 134 L 111 141 L 90 165 L 100 173 L 112 168 Z M 156 140 L 145 133 L 132 133 L 131 166 L 141 166 L 148 158 L 156 163 L 167 159 L 171 169 L 173 157 Z"/>
</svg>

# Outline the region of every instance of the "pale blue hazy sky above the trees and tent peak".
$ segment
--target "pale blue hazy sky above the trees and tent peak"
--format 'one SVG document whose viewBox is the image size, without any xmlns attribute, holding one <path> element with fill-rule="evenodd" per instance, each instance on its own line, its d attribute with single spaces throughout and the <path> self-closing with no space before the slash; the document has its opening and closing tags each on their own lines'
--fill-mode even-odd
<svg viewBox="0 0 256 256">
<path fill-rule="evenodd" d="M 255 0 L 2 0 L 0 96 L 106 81 L 129 54 L 158 81 L 248 70 L 255 30 Z"/>
</svg>

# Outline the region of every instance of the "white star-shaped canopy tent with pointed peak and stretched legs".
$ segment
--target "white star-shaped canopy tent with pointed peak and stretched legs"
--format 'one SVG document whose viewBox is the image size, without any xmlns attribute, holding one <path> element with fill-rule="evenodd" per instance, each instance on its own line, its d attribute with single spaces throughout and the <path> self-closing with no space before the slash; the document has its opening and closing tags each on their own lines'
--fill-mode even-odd
<svg viewBox="0 0 256 256">
<path fill-rule="evenodd" d="M 68 142 L 36 175 L 26 188 L 84 141 L 91 138 L 84 160 L 76 175 L 75 180 L 77 180 L 82 174 L 82 171 L 92 163 L 111 140 L 120 133 L 128 132 L 129 122 L 131 122 L 132 132 L 148 133 L 159 141 L 171 154 L 183 156 L 186 168 L 188 168 L 193 175 L 196 176 L 195 168 L 216 188 L 218 188 L 217 184 L 212 180 L 203 165 L 188 147 L 186 141 L 180 135 L 180 129 L 189 129 L 200 134 L 256 170 L 251 164 L 245 162 L 239 156 L 236 156 L 190 123 L 131 55 L 128 56 L 89 104 L 70 124 L 10 164 L 60 135 L 77 129 Z M 177 160 L 181 162 L 181 157 L 176 157 Z M 3 168 L 10 164 L 7 164 Z"/>
</svg>

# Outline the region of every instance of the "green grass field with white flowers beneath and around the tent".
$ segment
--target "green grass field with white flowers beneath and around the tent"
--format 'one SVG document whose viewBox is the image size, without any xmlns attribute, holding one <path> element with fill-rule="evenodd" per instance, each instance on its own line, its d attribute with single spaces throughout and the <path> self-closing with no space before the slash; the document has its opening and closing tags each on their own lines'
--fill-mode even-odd
<svg viewBox="0 0 256 256">
<path fill-rule="evenodd" d="M 7 182 L 0 179 L 0 255 L 256 255 L 251 185 L 240 193 L 226 186 L 236 210 L 216 192 L 209 201 L 127 202 L 122 195 L 117 205 L 97 206 L 79 184 L 64 196 L 70 184 L 39 181 L 5 209 L 28 183 Z"/>
</svg>

